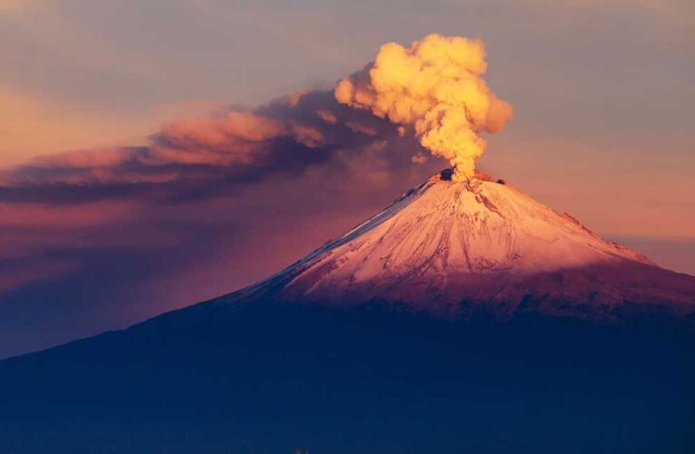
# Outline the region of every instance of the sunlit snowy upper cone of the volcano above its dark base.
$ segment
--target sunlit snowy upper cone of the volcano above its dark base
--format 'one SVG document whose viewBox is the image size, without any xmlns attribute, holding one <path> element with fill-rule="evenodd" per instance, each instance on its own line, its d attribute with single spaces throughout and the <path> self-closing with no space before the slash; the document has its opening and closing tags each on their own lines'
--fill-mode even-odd
<svg viewBox="0 0 695 454">
<path fill-rule="evenodd" d="M 286 270 L 224 298 L 405 303 L 448 315 L 535 311 L 612 320 L 695 311 L 695 278 L 606 242 L 483 173 L 444 171 Z"/>
</svg>

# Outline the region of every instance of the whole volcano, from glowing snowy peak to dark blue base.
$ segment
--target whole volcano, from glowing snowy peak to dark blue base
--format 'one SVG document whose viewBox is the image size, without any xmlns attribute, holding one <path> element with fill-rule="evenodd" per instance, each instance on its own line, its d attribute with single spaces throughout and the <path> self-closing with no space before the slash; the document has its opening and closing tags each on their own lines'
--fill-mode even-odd
<svg viewBox="0 0 695 454">
<path fill-rule="evenodd" d="M 695 277 L 443 171 L 250 287 L 0 361 L 0 451 L 695 449 Z"/>
</svg>

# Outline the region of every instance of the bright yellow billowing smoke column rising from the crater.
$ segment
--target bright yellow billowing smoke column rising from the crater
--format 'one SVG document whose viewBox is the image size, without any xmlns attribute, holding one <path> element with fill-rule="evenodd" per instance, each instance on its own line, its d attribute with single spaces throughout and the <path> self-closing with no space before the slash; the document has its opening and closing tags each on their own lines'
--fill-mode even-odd
<svg viewBox="0 0 695 454">
<path fill-rule="evenodd" d="M 383 44 L 361 72 L 335 85 L 335 99 L 411 125 L 422 146 L 452 163 L 454 181 L 472 177 L 485 151 L 482 131 L 499 131 L 511 104 L 482 79 L 487 64 L 480 40 L 427 35 L 408 47 Z"/>
</svg>

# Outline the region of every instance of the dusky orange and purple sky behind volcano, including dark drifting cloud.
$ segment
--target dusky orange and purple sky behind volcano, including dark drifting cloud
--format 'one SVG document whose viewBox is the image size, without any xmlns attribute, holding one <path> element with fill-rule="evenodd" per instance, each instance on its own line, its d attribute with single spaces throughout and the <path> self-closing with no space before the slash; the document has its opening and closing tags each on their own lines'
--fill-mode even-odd
<svg viewBox="0 0 695 454">
<path fill-rule="evenodd" d="M 430 33 L 513 105 L 480 168 L 695 274 L 694 5 L 0 0 L 0 357 L 253 283 L 446 166 L 331 95 Z"/>
</svg>

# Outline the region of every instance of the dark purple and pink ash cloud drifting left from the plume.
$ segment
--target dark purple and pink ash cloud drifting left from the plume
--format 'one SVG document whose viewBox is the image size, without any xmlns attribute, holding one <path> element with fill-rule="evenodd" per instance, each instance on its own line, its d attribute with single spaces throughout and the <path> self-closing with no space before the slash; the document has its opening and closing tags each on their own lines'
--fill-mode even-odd
<svg viewBox="0 0 695 454">
<path fill-rule="evenodd" d="M 167 123 L 143 146 L 35 158 L 0 173 L 0 202 L 221 195 L 277 173 L 359 159 L 384 140 L 382 159 L 396 167 L 420 150 L 392 123 L 338 104 L 332 92 L 304 91 L 250 111 Z"/>
</svg>

